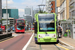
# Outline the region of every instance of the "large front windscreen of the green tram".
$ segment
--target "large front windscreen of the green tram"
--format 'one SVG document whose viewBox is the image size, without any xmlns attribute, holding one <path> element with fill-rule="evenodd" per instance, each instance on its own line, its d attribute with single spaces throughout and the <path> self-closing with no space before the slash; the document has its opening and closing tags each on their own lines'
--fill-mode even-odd
<svg viewBox="0 0 75 50">
<path fill-rule="evenodd" d="M 54 15 L 39 15 L 39 31 L 55 31 Z"/>
</svg>

